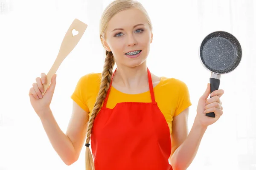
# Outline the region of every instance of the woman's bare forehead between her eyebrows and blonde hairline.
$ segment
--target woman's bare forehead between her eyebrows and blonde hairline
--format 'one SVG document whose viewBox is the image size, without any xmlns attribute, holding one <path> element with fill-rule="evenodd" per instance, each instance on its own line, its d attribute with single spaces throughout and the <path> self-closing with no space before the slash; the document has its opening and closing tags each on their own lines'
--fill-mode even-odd
<svg viewBox="0 0 256 170">
<path fill-rule="evenodd" d="M 144 24 L 147 26 L 147 20 L 145 15 L 139 9 L 127 9 L 120 11 L 114 15 L 108 23 L 108 31 L 112 31 L 115 28 L 132 28 L 136 24 Z"/>
</svg>

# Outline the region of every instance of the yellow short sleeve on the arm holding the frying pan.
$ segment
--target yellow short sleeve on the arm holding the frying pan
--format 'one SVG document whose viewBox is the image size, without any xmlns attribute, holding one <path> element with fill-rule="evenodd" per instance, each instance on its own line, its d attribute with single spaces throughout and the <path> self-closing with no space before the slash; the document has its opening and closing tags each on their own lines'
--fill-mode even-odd
<svg viewBox="0 0 256 170">
<path fill-rule="evenodd" d="M 174 117 L 179 115 L 182 111 L 192 105 L 187 85 L 184 82 L 178 80 L 178 89 L 178 101 Z"/>
</svg>

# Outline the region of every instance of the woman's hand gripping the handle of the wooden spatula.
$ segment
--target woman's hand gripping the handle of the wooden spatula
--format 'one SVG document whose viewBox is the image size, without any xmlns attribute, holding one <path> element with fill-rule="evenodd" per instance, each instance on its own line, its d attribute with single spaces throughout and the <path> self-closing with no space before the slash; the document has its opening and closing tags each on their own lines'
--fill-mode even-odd
<svg viewBox="0 0 256 170">
<path fill-rule="evenodd" d="M 44 89 L 44 83 L 46 82 L 46 74 L 42 73 L 41 78 L 37 77 L 36 83 L 33 83 L 33 87 L 29 90 L 29 98 L 32 107 L 40 117 L 45 111 L 49 110 L 52 102 L 52 96 L 56 85 L 56 74 L 52 76 L 51 84 L 47 89 Z M 44 91 L 46 92 L 44 93 Z M 44 96 L 42 95 L 44 93 Z"/>
</svg>

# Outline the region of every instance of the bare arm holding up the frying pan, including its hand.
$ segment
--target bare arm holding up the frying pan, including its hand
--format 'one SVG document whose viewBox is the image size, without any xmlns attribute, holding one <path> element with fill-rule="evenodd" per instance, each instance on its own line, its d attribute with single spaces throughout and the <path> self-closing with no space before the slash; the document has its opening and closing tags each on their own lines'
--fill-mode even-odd
<svg viewBox="0 0 256 170">
<path fill-rule="evenodd" d="M 199 99 L 197 115 L 193 126 L 188 134 L 188 114 L 189 108 L 175 116 L 172 123 L 172 153 L 170 163 L 174 170 L 186 170 L 198 151 L 200 142 L 207 127 L 216 122 L 223 114 L 220 97 L 224 94 L 223 90 L 212 92 L 212 98 L 208 98 L 210 86 Z M 205 113 L 215 113 L 215 118 L 208 117 Z"/>
</svg>

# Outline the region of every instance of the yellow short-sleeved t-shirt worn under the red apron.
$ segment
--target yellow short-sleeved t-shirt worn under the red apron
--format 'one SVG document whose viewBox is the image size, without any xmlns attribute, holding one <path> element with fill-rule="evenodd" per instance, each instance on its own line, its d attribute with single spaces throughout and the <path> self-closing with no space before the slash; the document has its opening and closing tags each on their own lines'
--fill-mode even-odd
<svg viewBox="0 0 256 170">
<path fill-rule="evenodd" d="M 71 99 L 88 112 L 89 117 L 99 92 L 101 77 L 101 73 L 82 76 L 71 95 Z M 192 105 L 189 90 L 186 84 L 179 79 L 161 77 L 159 84 L 154 87 L 154 96 L 169 125 L 171 134 L 173 117 Z M 151 102 L 150 91 L 141 94 L 125 94 L 111 87 L 106 107 L 114 108 L 116 103 L 120 102 Z"/>
</svg>

